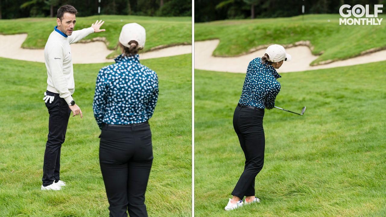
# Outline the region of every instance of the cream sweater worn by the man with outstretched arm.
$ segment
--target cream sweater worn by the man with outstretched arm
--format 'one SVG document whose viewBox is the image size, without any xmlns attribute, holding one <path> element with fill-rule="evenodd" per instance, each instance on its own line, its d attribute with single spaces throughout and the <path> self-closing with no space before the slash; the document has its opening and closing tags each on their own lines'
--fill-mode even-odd
<svg viewBox="0 0 386 217">
<path fill-rule="evenodd" d="M 47 90 L 59 93 L 67 103 L 71 103 L 71 95 L 75 91 L 74 71 L 70 44 L 80 41 L 93 33 L 92 27 L 73 31 L 67 36 L 55 26 L 44 47 L 44 62 L 47 68 Z"/>
</svg>

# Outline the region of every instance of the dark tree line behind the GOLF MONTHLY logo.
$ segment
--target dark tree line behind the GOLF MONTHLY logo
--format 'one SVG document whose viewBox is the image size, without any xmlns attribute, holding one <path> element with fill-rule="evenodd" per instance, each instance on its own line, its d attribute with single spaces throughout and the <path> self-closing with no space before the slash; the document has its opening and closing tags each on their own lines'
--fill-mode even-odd
<svg viewBox="0 0 386 217">
<path fill-rule="evenodd" d="M 386 5 L 386 0 L 195 0 L 195 22 L 292 17 L 302 14 L 302 5 L 305 14 L 338 14 L 344 4 L 369 5 L 374 12 L 374 5 Z"/>
</svg>

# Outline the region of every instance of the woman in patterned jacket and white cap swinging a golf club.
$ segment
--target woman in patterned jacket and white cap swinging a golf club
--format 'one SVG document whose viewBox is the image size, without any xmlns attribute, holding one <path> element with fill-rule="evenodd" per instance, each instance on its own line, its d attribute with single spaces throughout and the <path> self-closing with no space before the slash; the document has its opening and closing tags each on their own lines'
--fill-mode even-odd
<svg viewBox="0 0 386 217">
<path fill-rule="evenodd" d="M 245 155 L 244 171 L 237 182 L 225 210 L 236 209 L 245 203 L 260 202 L 255 197 L 255 177 L 264 163 L 264 108 L 272 109 L 280 91 L 275 69 L 291 56 L 278 44 L 267 48 L 262 58 L 253 59 L 248 66 L 239 103 L 233 116 L 233 127 Z"/>
</svg>

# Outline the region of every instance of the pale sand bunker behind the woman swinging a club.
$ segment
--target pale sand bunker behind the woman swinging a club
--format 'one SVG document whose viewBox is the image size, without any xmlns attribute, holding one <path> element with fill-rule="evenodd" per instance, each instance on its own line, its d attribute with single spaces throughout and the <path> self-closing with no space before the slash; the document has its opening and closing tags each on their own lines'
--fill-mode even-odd
<svg viewBox="0 0 386 217">
<path fill-rule="evenodd" d="M 220 40 L 218 39 L 195 42 L 195 69 L 245 73 L 249 62 L 256 57 L 262 57 L 266 50 L 266 48 L 259 49 L 253 53 L 237 57 L 214 57 L 212 53 L 219 42 Z M 286 48 L 286 52 L 291 54 L 292 60 L 291 62 L 283 63 L 280 69 L 278 69 L 279 73 L 351 66 L 386 60 L 386 50 L 383 50 L 329 64 L 310 66 L 310 63 L 317 59 L 318 56 L 312 55 L 308 46 L 289 47 Z"/>
</svg>

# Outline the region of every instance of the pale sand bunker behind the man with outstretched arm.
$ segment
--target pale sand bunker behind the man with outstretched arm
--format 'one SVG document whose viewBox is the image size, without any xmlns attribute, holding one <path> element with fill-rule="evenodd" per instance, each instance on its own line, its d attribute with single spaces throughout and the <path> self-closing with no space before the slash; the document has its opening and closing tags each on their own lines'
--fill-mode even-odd
<svg viewBox="0 0 386 217">
<path fill-rule="evenodd" d="M 27 34 L 0 35 L 0 57 L 44 63 L 44 49 L 21 48 L 26 38 Z M 139 54 L 139 59 L 176 56 L 189 54 L 191 51 L 191 45 L 173 46 Z M 73 63 L 113 62 L 113 59 L 106 59 L 111 52 L 102 41 L 71 44 Z"/>
</svg>

